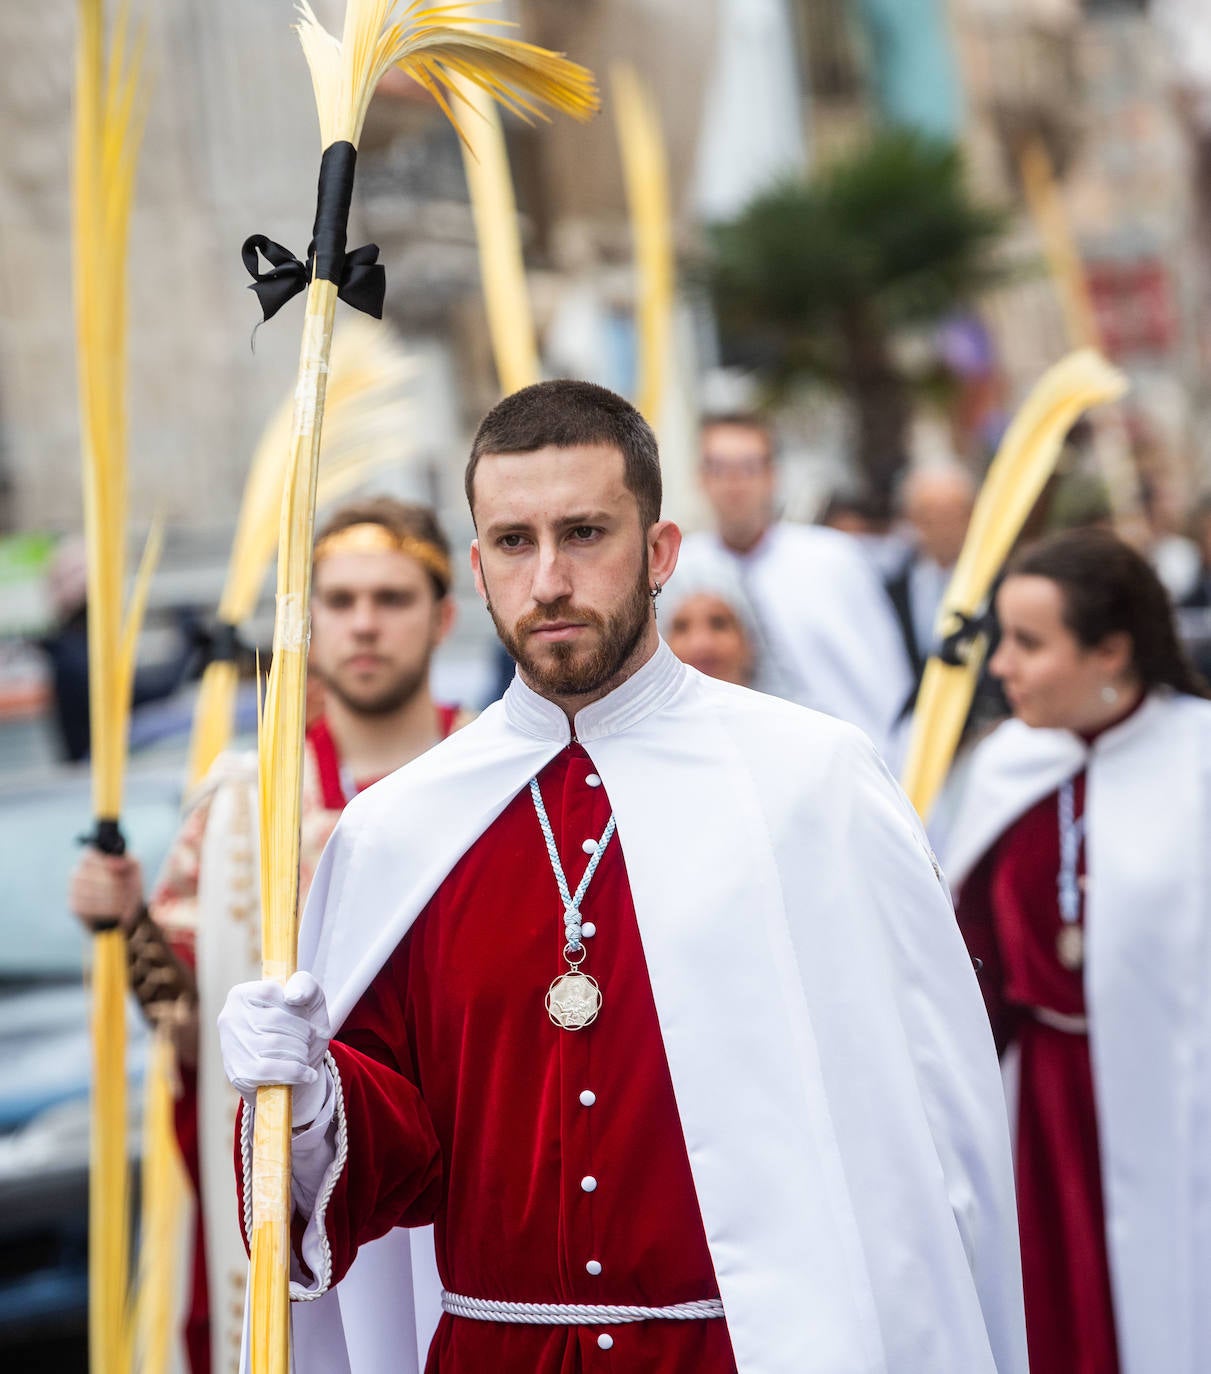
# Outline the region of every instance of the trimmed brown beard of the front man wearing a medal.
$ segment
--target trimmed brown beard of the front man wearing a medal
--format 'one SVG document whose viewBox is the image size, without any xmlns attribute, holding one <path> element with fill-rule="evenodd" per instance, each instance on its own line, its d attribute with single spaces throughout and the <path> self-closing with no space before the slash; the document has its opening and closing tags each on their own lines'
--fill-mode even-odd
<svg viewBox="0 0 1211 1374">
<path fill-rule="evenodd" d="M 548 697 L 587 697 L 601 691 L 619 676 L 643 638 L 652 603 L 645 567 L 631 595 L 612 616 L 573 606 L 570 598 L 532 610 L 511 628 L 504 625 L 488 599 L 488 614 L 500 643 L 517 661 L 536 691 Z M 544 647 L 544 657 L 529 647 L 529 633 L 555 621 L 575 621 L 598 632 L 597 643 L 581 649 L 575 643 L 555 642 Z"/>
</svg>

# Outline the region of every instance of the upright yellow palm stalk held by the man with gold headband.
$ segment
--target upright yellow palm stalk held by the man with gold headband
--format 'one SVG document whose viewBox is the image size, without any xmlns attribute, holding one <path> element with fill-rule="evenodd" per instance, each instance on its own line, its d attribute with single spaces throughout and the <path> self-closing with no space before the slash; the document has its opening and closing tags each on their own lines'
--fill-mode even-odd
<svg viewBox="0 0 1211 1374">
<path fill-rule="evenodd" d="M 125 7 L 106 55 L 102 0 L 80 0 L 71 201 L 73 286 L 88 545 L 88 686 L 93 842 L 122 852 L 135 649 L 158 554 L 153 530 L 122 614 L 126 580 L 126 245 L 142 132 L 140 51 L 128 51 Z M 88 1336 L 93 1374 L 129 1363 L 126 1161 L 126 954 L 114 927 L 92 965 L 92 1106 Z"/>
</svg>

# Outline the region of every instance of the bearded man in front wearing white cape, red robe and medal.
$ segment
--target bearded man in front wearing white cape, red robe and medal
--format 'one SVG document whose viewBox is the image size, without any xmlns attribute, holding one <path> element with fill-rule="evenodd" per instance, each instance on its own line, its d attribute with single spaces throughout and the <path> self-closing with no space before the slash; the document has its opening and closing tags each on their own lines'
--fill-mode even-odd
<svg viewBox="0 0 1211 1374">
<path fill-rule="evenodd" d="M 903 796 L 661 643 L 624 400 L 507 397 L 466 491 L 517 677 L 346 808 L 307 971 L 220 1018 L 245 1146 L 294 1088 L 296 1369 L 1021 1374 L 995 1051 Z"/>
</svg>

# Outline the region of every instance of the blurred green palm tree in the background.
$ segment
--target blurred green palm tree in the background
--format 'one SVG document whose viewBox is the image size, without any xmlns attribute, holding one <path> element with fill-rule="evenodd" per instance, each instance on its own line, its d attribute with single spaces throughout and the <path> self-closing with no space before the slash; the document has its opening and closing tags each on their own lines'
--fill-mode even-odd
<svg viewBox="0 0 1211 1374">
<path fill-rule="evenodd" d="M 904 462 L 911 379 L 892 338 L 1006 279 L 1006 216 L 977 203 L 955 147 L 877 135 L 812 180 L 792 180 L 709 231 L 724 356 L 775 389 L 801 376 L 852 405 L 869 492 L 888 502 Z"/>
</svg>

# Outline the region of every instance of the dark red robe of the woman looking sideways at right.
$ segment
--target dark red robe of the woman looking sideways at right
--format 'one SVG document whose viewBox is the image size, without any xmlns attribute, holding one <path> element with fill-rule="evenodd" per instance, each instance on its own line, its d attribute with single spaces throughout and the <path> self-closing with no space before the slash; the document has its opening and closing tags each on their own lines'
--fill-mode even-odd
<svg viewBox="0 0 1211 1374">
<path fill-rule="evenodd" d="M 1085 809 L 1085 774 L 1074 786 Z M 1020 816 L 962 886 L 958 919 L 981 959 L 999 1050 L 1020 1051 L 1016 1178 L 1031 1374 L 1116 1374 L 1089 1036 L 1027 1009 L 1086 1014 L 1079 971 L 1056 954 L 1061 927 L 1058 794 Z M 1085 846 L 1078 871 L 1085 872 Z"/>
</svg>

